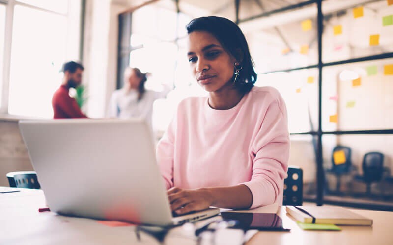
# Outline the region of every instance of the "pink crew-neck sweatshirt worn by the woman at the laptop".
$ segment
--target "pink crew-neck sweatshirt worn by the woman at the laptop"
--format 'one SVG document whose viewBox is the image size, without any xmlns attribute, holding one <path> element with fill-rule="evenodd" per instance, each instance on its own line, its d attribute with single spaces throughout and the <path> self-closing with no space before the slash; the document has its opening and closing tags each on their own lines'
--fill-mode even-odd
<svg viewBox="0 0 393 245">
<path fill-rule="evenodd" d="M 286 108 L 272 87 L 253 87 L 228 110 L 212 109 L 207 97 L 184 99 L 157 146 L 167 189 L 244 184 L 251 208 L 282 205 L 288 158 Z"/>
</svg>

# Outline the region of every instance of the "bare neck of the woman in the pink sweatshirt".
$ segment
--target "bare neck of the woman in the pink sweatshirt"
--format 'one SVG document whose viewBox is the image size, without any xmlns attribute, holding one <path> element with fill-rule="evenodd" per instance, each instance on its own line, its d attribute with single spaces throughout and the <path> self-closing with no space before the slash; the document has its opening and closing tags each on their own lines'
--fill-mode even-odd
<svg viewBox="0 0 393 245">
<path fill-rule="evenodd" d="M 234 87 L 222 88 L 209 93 L 209 106 L 216 110 L 228 110 L 236 106 L 243 95 Z"/>
</svg>

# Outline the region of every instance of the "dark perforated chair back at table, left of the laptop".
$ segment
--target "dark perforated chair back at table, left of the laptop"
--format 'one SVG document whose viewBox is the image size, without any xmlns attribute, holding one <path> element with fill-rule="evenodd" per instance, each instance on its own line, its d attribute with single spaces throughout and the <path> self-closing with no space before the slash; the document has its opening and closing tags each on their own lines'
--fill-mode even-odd
<svg viewBox="0 0 393 245">
<path fill-rule="evenodd" d="M 40 189 L 35 171 L 16 171 L 7 173 L 10 187 Z"/>
</svg>

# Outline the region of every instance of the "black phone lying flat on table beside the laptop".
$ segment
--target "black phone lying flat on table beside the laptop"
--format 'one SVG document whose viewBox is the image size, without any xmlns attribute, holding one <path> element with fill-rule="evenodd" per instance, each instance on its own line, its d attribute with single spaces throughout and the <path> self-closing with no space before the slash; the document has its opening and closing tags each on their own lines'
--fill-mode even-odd
<svg viewBox="0 0 393 245">
<path fill-rule="evenodd" d="M 238 221 L 231 228 L 243 230 L 290 231 L 282 225 L 282 219 L 277 214 L 221 212 L 223 220 Z"/>
</svg>

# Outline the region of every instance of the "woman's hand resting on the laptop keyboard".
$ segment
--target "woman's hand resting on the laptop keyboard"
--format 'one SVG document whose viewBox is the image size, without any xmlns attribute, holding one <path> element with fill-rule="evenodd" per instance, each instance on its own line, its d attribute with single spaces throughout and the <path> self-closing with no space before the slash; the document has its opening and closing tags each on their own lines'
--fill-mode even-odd
<svg viewBox="0 0 393 245">
<path fill-rule="evenodd" d="M 214 203 L 214 197 L 207 189 L 186 190 L 173 187 L 167 194 L 170 209 L 177 214 L 203 210 Z"/>
</svg>

